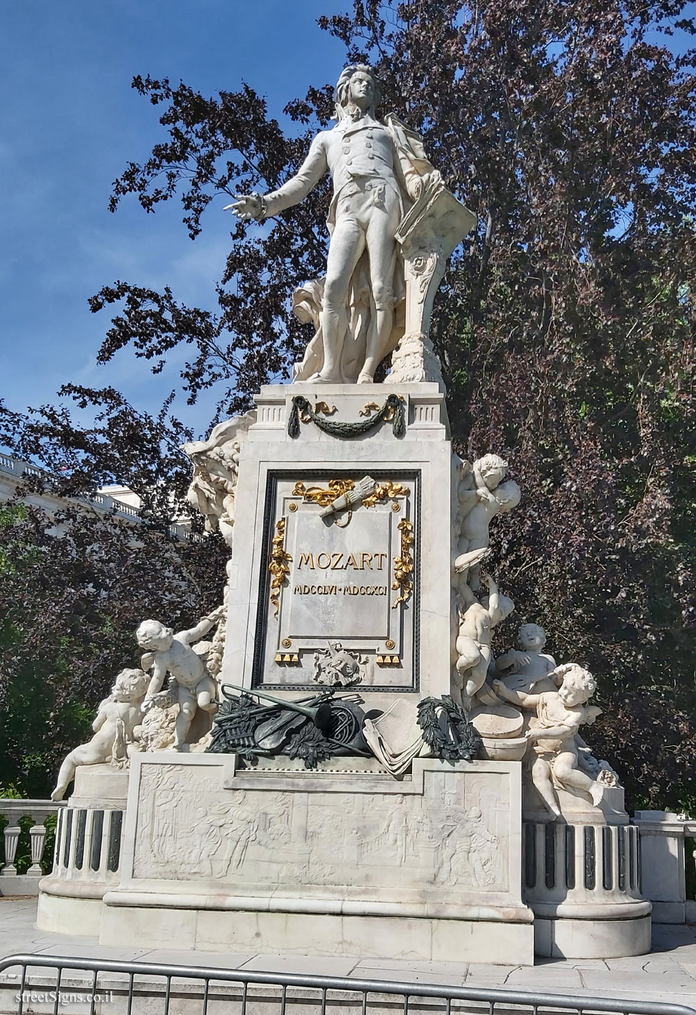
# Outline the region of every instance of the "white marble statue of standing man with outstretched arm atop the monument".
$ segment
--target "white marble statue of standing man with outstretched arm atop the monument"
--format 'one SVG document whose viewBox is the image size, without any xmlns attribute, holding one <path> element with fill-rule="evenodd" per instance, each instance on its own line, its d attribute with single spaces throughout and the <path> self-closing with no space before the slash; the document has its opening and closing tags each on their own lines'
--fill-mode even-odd
<svg viewBox="0 0 696 1015">
<path fill-rule="evenodd" d="M 404 214 L 440 176 L 420 136 L 394 116 L 376 117 L 379 83 L 370 67 L 346 67 L 336 85 L 337 124 L 322 131 L 297 174 L 263 197 L 228 205 L 262 221 L 301 201 L 331 173 L 327 273 L 293 295 L 316 334 L 294 367 L 295 382 L 369 384 L 404 334 L 404 265 L 397 231 Z"/>
</svg>

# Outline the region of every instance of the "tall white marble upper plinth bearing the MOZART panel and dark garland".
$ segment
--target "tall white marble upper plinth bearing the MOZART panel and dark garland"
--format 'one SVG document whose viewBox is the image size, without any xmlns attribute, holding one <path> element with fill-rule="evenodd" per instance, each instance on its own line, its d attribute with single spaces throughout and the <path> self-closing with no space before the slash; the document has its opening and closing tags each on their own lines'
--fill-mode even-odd
<svg viewBox="0 0 696 1015">
<path fill-rule="evenodd" d="M 298 395 L 330 423 L 364 422 L 400 396 L 405 432 L 384 420 L 337 436 L 308 420 L 291 436 Z M 414 702 L 448 694 L 453 457 L 443 393 L 435 384 L 277 385 L 264 387 L 257 405 L 235 487 L 222 681 L 306 693 L 317 686 L 315 653 L 335 638 L 366 661 L 359 690 L 367 707 L 387 709 L 397 693 Z M 402 492 L 330 519 L 293 495 L 298 483 L 326 488 L 365 476 Z M 272 541 L 281 530 L 286 576 L 274 586 Z M 409 585 L 395 586 L 405 551 Z"/>
</svg>

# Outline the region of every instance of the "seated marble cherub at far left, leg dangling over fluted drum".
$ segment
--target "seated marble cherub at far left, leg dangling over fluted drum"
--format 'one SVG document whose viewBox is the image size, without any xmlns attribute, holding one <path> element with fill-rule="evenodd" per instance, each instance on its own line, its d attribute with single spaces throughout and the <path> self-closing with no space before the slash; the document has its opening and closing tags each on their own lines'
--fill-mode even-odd
<svg viewBox="0 0 696 1015">
<path fill-rule="evenodd" d="M 107 764 L 119 767 L 127 763 L 138 738 L 142 719 L 142 701 L 147 688 L 147 674 L 142 670 L 122 670 L 114 681 L 112 692 L 99 704 L 92 723 L 94 736 L 88 744 L 70 751 L 58 772 L 52 800 L 62 800 L 81 764 Z"/>
</svg>

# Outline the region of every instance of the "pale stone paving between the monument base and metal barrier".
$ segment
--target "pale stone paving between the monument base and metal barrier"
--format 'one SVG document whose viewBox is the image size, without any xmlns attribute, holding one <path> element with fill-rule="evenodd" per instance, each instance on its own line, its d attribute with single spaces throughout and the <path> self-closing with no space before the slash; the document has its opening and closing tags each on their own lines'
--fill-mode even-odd
<svg viewBox="0 0 696 1015">
<path fill-rule="evenodd" d="M 544 959 L 534 967 L 483 965 L 465 962 L 404 962 L 389 959 L 317 958 L 224 952 L 169 951 L 144 948 L 108 948 L 96 938 L 49 934 L 34 926 L 36 898 L 0 897 L 0 957 L 18 952 L 78 958 L 131 959 L 226 968 L 263 969 L 358 976 L 367 979 L 404 979 L 479 987 L 508 987 L 608 998 L 671 1001 L 696 1010 L 696 928 L 653 928 L 649 955 L 636 958 Z"/>
</svg>

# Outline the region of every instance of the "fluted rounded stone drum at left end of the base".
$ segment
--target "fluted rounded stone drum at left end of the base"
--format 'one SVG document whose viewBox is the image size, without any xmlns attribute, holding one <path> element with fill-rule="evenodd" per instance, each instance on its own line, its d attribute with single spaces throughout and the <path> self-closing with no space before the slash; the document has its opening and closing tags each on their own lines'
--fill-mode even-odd
<svg viewBox="0 0 696 1015">
<path fill-rule="evenodd" d="M 119 883 L 128 769 L 81 765 L 58 814 L 52 873 L 39 882 L 38 926 L 98 935 L 103 893 Z"/>
</svg>

